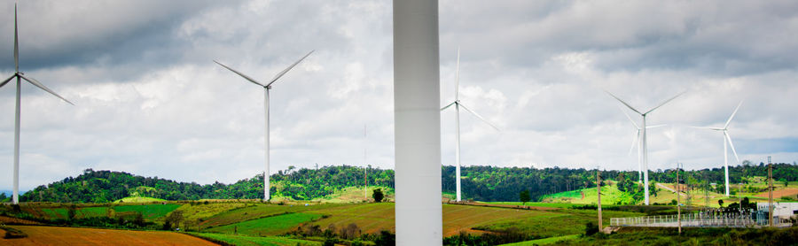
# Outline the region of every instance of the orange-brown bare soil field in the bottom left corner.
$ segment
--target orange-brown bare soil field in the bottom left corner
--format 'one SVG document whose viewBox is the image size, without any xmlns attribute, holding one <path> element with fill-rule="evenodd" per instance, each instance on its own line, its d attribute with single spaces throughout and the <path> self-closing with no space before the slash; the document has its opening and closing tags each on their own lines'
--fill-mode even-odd
<svg viewBox="0 0 798 246">
<path fill-rule="evenodd" d="M 0 238 L 0 245 L 217 245 L 187 234 L 74 227 L 11 226 L 26 238 Z"/>
</svg>

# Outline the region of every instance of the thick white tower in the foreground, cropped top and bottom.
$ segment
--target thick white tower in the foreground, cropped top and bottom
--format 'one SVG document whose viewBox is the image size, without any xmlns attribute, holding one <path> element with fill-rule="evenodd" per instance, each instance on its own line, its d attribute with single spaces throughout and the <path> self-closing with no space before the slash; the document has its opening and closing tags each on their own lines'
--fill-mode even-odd
<svg viewBox="0 0 798 246">
<path fill-rule="evenodd" d="M 395 0 L 396 245 L 441 245 L 438 0 Z"/>
</svg>

